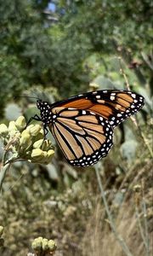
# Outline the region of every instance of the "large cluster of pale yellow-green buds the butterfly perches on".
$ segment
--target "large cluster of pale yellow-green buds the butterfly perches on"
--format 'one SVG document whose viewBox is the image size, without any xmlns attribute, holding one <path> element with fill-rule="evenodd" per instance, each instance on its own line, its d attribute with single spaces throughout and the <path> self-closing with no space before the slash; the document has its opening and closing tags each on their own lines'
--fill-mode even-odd
<svg viewBox="0 0 153 256">
<path fill-rule="evenodd" d="M 20 116 L 16 121 L 0 125 L 0 138 L 7 154 L 7 162 L 28 160 L 32 163 L 48 164 L 54 150 L 51 142 L 44 140 L 41 125 L 28 125 Z"/>
</svg>

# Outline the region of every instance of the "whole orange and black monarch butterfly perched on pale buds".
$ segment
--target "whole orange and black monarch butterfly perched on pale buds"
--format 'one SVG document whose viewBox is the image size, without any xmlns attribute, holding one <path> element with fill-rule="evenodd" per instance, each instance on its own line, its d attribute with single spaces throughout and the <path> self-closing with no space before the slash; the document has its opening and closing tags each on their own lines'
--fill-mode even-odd
<svg viewBox="0 0 153 256">
<path fill-rule="evenodd" d="M 92 166 L 110 151 L 113 129 L 144 106 L 129 90 L 96 90 L 49 104 L 37 100 L 45 136 L 52 132 L 72 166 Z"/>
</svg>

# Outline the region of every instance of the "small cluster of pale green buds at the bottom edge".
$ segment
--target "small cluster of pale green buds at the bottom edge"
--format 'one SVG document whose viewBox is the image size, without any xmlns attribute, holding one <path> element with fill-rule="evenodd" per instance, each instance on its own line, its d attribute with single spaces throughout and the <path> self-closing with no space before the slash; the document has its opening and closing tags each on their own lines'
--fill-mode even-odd
<svg viewBox="0 0 153 256">
<path fill-rule="evenodd" d="M 48 240 L 42 238 L 42 236 L 37 237 L 31 244 L 33 251 L 37 256 L 51 256 L 57 248 L 54 240 Z"/>
</svg>

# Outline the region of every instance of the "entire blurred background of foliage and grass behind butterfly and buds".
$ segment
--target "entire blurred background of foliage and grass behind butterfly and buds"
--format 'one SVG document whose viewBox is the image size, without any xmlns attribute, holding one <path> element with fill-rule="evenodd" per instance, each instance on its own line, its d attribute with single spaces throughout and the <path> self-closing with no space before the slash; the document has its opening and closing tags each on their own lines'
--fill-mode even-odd
<svg viewBox="0 0 153 256">
<path fill-rule="evenodd" d="M 137 116 L 116 128 L 114 147 L 99 161 L 116 230 L 132 255 L 151 254 L 153 92 L 150 0 L 5 0 L 0 4 L 0 121 L 38 113 L 88 90 L 130 89 L 143 95 Z M 14 96 L 16 98 L 14 99 Z M 26 255 L 37 236 L 57 242 L 57 256 L 122 256 L 99 193 L 95 167 L 69 166 L 54 138 L 48 166 L 16 163 L 0 196 L 1 255 Z M 0 154 L 3 154 L 1 147 Z"/>
</svg>

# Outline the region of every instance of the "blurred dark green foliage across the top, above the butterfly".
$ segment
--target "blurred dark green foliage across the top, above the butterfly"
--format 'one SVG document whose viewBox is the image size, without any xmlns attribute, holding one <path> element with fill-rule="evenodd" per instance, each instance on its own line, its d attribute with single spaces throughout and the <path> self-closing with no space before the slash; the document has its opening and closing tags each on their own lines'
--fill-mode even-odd
<svg viewBox="0 0 153 256">
<path fill-rule="evenodd" d="M 1 115 L 8 100 L 33 84 L 54 85 L 61 96 L 87 90 L 91 73 L 83 63 L 95 53 L 106 72 L 110 55 L 128 65 L 137 57 L 139 82 L 150 79 L 150 1 L 57 1 L 56 12 L 46 14 L 47 3 L 1 3 Z"/>
</svg>

